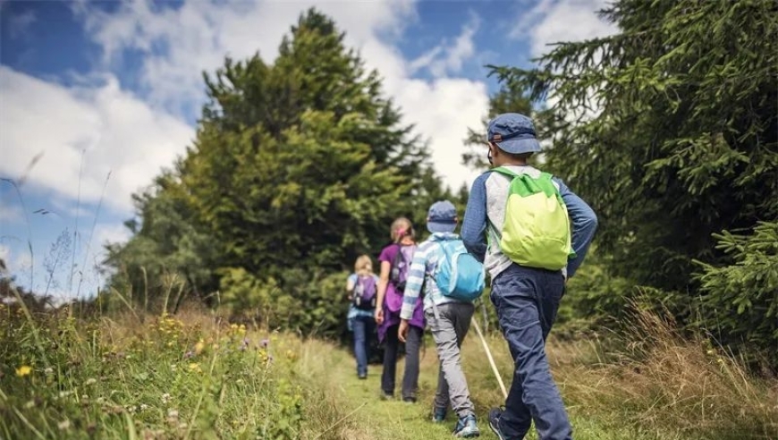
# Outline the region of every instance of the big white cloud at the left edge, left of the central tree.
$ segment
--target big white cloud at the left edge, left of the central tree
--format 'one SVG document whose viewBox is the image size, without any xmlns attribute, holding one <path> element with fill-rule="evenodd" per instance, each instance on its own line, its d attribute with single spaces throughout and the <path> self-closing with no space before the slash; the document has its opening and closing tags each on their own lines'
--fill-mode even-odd
<svg viewBox="0 0 778 440">
<path fill-rule="evenodd" d="M 123 212 L 131 192 L 172 165 L 194 135 L 120 89 L 112 75 L 100 86 L 66 89 L 0 66 L 0 95 L 0 173 L 66 199 L 103 198 Z"/>
</svg>

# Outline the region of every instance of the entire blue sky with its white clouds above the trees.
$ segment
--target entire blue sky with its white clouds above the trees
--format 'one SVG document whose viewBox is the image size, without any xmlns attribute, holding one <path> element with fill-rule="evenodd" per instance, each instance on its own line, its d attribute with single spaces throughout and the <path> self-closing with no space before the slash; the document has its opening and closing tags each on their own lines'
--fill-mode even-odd
<svg viewBox="0 0 778 440">
<path fill-rule="evenodd" d="M 485 64 L 613 32 L 596 18 L 605 0 L 0 0 L 0 258 L 19 282 L 93 294 L 131 194 L 194 138 L 200 72 L 228 54 L 272 62 L 311 5 L 381 72 L 453 188 L 476 175 L 459 158 L 498 87 Z"/>
</svg>

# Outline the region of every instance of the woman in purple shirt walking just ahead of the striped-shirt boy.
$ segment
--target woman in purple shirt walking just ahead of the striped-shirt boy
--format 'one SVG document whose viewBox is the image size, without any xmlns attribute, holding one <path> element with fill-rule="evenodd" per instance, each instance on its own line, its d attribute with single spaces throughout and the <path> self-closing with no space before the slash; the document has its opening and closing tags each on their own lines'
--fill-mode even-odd
<svg viewBox="0 0 778 440">
<path fill-rule="evenodd" d="M 413 251 L 416 250 L 413 226 L 410 220 L 400 217 L 392 223 L 390 229 L 392 244 L 381 251 L 381 275 L 378 281 L 376 324 L 378 340 L 385 344 L 384 372 L 381 375 L 381 391 L 384 399 L 394 397 L 394 379 L 397 371 L 397 351 L 400 340 L 397 330 L 400 326 L 402 291 L 405 276 L 410 268 Z M 409 321 L 410 331 L 405 343 L 405 373 L 402 377 L 402 400 L 416 402 L 416 390 L 419 388 L 419 349 L 424 334 L 424 310 L 419 298 L 413 317 Z"/>
</svg>

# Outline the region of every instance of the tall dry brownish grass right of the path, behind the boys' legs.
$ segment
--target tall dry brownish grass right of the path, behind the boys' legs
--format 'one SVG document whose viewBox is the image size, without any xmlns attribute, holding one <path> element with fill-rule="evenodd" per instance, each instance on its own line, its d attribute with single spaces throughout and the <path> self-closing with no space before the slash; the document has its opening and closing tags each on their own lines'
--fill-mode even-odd
<svg viewBox="0 0 778 440">
<path fill-rule="evenodd" d="M 656 438 L 778 438 L 778 382 L 753 377 L 744 362 L 709 339 L 689 340 L 672 321 L 638 310 L 629 334 L 548 343 L 552 373 L 573 416 Z M 552 335 L 554 333 L 552 332 Z M 512 359 L 500 335 L 489 345 L 503 378 Z M 465 368 L 479 407 L 503 402 L 476 335 Z"/>
</svg>

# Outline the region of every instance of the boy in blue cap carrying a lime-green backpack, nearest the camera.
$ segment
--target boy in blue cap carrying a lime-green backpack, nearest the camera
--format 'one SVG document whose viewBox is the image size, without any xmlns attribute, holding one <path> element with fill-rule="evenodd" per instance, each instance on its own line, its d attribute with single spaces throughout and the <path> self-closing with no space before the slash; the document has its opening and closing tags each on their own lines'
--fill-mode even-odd
<svg viewBox="0 0 778 440">
<path fill-rule="evenodd" d="M 522 439 L 534 420 L 543 440 L 570 440 L 572 429 L 551 377 L 545 339 L 567 278 L 586 256 L 597 219 L 562 181 L 527 164 L 540 151 L 529 117 L 500 114 L 489 122 L 486 136 L 495 168 L 473 182 L 461 235 L 491 275 L 490 299 L 515 364 L 505 408 L 489 411 L 489 427 L 501 440 Z M 553 222 L 528 224 L 537 218 Z M 540 230 L 558 240 L 546 240 Z"/>
</svg>

